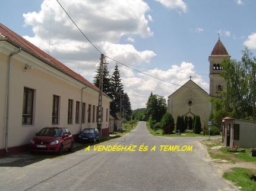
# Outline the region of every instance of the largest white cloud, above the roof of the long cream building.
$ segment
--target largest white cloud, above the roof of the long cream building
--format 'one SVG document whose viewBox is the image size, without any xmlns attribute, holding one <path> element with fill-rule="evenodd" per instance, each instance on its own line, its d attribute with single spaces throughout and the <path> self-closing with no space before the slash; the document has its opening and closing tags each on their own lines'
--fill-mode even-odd
<svg viewBox="0 0 256 191">
<path fill-rule="evenodd" d="M 134 41 L 133 35 L 151 37 L 148 27 L 152 21 L 150 7 L 143 0 L 89 1 L 62 0 L 61 4 L 84 34 L 109 57 L 125 63 L 148 63 L 156 54 L 151 50 L 138 51 L 131 44 L 119 44 L 122 37 Z M 108 17 L 106 17 L 108 15 Z M 31 26 L 34 36 L 24 36 L 37 47 L 62 61 L 75 72 L 91 80 L 99 52 L 84 38 L 56 1 L 43 1 L 39 12 L 23 14 L 24 25 Z M 112 68 L 110 68 L 112 69 Z M 131 76 L 131 73 L 128 74 Z"/>
</svg>

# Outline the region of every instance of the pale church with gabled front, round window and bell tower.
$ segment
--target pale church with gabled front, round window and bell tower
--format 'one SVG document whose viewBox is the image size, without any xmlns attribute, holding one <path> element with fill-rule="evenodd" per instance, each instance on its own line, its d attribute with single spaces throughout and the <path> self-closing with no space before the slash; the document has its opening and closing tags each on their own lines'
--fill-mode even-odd
<svg viewBox="0 0 256 191">
<path fill-rule="evenodd" d="M 209 93 L 200 88 L 190 77 L 188 82 L 168 96 L 167 112 L 172 114 L 175 121 L 178 115 L 192 117 L 199 115 L 202 127 L 207 124 L 212 109 L 210 98 L 220 98 L 220 92 L 227 88 L 225 79 L 220 76 L 220 72 L 223 70 L 221 63 L 225 58 L 230 58 L 230 55 L 219 38 L 208 57 L 210 77 Z"/>
</svg>

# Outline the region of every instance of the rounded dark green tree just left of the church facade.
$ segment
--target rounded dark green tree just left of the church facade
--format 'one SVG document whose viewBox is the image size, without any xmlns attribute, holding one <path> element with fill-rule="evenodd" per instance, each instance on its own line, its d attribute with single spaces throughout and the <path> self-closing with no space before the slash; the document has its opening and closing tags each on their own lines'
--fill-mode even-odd
<svg viewBox="0 0 256 191">
<path fill-rule="evenodd" d="M 146 103 L 147 106 L 147 116 L 152 116 L 156 122 L 160 122 L 163 114 L 166 113 L 166 100 L 163 96 L 150 94 L 148 101 Z"/>
</svg>

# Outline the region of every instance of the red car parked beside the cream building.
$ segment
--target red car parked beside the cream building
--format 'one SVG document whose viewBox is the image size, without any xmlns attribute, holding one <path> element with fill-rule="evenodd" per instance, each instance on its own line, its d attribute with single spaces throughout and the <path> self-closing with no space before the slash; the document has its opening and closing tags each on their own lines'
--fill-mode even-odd
<svg viewBox="0 0 256 191">
<path fill-rule="evenodd" d="M 68 128 L 64 127 L 45 127 L 39 131 L 30 141 L 31 152 L 56 152 L 62 154 L 62 151 L 72 152 L 74 147 L 74 138 Z"/>
</svg>

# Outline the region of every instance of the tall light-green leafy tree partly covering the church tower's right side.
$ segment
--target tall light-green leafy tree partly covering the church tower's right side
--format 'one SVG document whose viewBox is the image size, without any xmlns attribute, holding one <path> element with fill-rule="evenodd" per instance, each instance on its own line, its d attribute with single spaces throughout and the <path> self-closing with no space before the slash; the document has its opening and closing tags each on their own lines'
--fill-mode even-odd
<svg viewBox="0 0 256 191">
<path fill-rule="evenodd" d="M 221 92 L 222 99 L 211 98 L 213 121 L 221 128 L 222 118 L 231 116 L 238 119 L 252 119 L 253 73 L 256 58 L 245 48 L 241 61 L 225 59 L 220 73 L 227 82 L 227 90 Z"/>
</svg>

